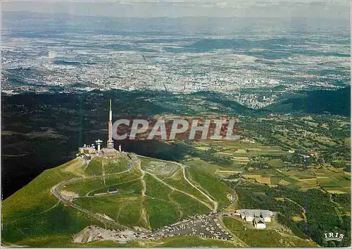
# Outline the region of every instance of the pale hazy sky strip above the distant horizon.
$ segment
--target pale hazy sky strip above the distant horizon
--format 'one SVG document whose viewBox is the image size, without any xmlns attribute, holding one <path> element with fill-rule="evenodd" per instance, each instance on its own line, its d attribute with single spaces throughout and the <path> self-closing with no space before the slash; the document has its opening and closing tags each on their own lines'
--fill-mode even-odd
<svg viewBox="0 0 352 249">
<path fill-rule="evenodd" d="M 350 1 L 14 1 L 2 0 L 2 11 L 70 13 L 114 17 L 322 17 L 351 18 Z"/>
</svg>

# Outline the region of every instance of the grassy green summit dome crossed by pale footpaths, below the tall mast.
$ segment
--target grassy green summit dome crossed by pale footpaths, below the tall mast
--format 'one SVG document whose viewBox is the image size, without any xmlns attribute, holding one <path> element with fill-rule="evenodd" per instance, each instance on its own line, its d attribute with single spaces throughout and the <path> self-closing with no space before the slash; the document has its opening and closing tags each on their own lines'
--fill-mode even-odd
<svg viewBox="0 0 352 249">
<path fill-rule="evenodd" d="M 54 186 L 63 200 L 54 195 Z M 108 193 L 108 189 L 118 191 Z M 77 158 L 45 170 L 4 200 L 2 241 L 3 245 L 80 246 L 73 243 L 73 235 L 87 226 L 158 229 L 220 210 L 230 203 L 231 192 L 210 174 L 198 174 L 176 162 L 137 155 L 130 160 L 125 154 L 96 157 L 89 164 Z M 116 227 L 96 215 L 113 219 Z"/>
</svg>

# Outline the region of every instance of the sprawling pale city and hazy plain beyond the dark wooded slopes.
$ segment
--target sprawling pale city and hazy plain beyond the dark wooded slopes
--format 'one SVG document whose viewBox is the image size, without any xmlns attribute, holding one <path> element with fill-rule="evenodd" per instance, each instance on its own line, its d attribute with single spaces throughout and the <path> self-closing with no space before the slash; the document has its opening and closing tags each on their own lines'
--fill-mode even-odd
<svg viewBox="0 0 352 249">
<path fill-rule="evenodd" d="M 105 22 L 115 22 L 119 30 L 105 29 L 104 23 L 100 29 L 79 30 L 75 26 L 82 23 L 67 20 L 65 30 L 39 34 L 25 30 L 28 24 L 11 19 L 11 13 L 4 18 L 1 74 L 5 94 L 94 89 L 215 91 L 229 94 L 244 106 L 263 108 L 286 92 L 336 89 L 350 82 L 349 34 L 339 30 L 334 38 L 321 37 L 320 30 L 285 34 L 280 27 L 275 35 L 263 35 L 260 27 L 234 34 L 219 35 L 220 27 L 220 31 L 214 27 L 209 34 L 181 30 L 170 35 L 169 30 L 141 33 L 135 30 L 138 22 L 131 28 L 112 19 Z M 57 23 L 45 20 L 40 25 L 45 30 Z M 299 25 L 291 29 L 298 30 Z"/>
</svg>

